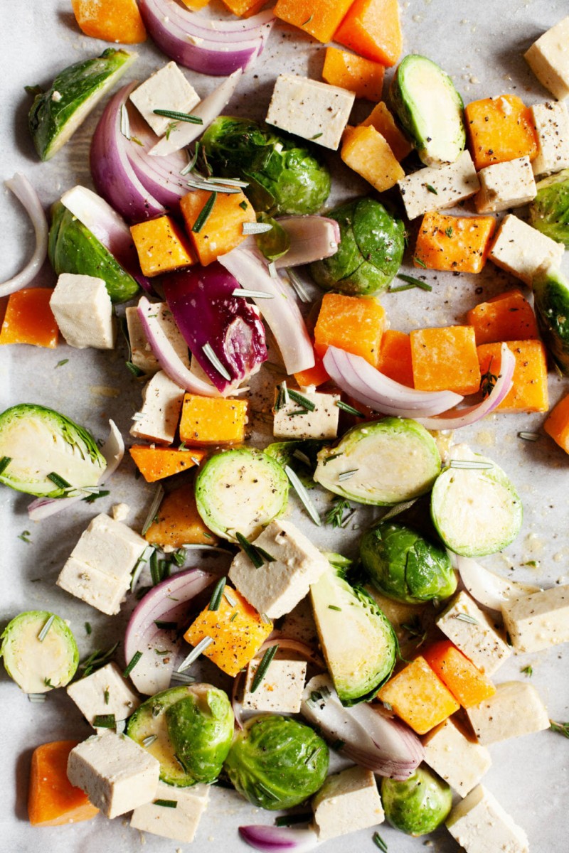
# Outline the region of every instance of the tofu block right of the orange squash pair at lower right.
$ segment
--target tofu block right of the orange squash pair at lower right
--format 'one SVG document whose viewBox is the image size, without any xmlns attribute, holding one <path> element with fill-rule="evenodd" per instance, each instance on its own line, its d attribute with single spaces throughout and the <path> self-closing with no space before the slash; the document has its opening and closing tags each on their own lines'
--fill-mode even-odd
<svg viewBox="0 0 569 853">
<path fill-rule="evenodd" d="M 474 734 L 482 746 L 549 728 L 547 708 L 527 682 L 504 682 L 479 705 L 467 708 Z"/>
</svg>

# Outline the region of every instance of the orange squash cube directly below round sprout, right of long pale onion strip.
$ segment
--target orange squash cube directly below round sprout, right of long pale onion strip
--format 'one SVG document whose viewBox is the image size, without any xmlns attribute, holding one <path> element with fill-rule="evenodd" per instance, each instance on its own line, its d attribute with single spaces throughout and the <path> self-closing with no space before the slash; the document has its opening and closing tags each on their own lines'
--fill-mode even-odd
<svg viewBox="0 0 569 853">
<path fill-rule="evenodd" d="M 337 346 L 375 367 L 385 326 L 386 312 L 377 299 L 326 293 L 314 327 L 314 348 L 323 357 L 328 346 Z"/>
</svg>

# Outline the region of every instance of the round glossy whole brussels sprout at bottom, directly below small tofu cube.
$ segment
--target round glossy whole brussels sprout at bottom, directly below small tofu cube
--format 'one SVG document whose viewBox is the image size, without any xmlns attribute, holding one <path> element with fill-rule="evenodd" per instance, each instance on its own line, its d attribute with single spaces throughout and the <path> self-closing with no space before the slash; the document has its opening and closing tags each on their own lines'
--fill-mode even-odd
<svg viewBox="0 0 569 853">
<path fill-rule="evenodd" d="M 322 786 L 328 773 L 328 746 L 311 728 L 290 717 L 253 717 L 237 734 L 224 769 L 253 805 L 290 809 Z"/>
</svg>

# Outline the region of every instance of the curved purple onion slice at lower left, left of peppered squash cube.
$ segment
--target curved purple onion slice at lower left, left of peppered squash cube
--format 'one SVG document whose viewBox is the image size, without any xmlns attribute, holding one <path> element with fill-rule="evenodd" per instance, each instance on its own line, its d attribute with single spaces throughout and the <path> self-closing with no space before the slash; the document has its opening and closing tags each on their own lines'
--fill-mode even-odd
<svg viewBox="0 0 569 853">
<path fill-rule="evenodd" d="M 142 653 L 131 671 L 131 681 L 141 693 L 152 696 L 170 686 L 181 646 L 177 630 L 160 628 L 156 622 L 175 622 L 183 627 L 189 601 L 215 578 L 200 569 L 177 572 L 151 589 L 135 607 L 125 633 L 125 659 L 129 661 L 137 652 Z"/>
</svg>

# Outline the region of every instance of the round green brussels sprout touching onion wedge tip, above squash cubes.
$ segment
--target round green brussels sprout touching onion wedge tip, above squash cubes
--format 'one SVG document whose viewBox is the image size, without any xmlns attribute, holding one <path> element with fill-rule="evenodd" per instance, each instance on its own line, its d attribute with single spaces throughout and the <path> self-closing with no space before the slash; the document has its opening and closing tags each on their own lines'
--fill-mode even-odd
<svg viewBox="0 0 569 853">
<path fill-rule="evenodd" d="M 403 260 L 404 223 L 379 201 L 348 201 L 327 216 L 340 225 L 340 245 L 330 258 L 316 261 L 309 272 L 320 287 L 354 296 L 386 290 Z"/>
</svg>

